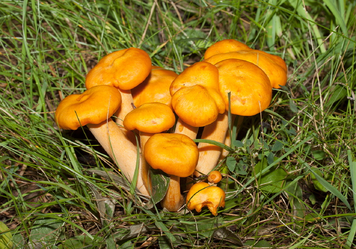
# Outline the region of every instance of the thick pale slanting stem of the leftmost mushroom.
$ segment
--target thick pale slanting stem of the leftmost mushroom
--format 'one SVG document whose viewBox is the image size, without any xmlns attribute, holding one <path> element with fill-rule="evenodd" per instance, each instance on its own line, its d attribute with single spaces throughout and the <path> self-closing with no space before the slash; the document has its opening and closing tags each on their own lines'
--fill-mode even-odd
<svg viewBox="0 0 356 249">
<path fill-rule="evenodd" d="M 136 169 L 136 146 L 132 144 L 111 118 L 98 124 L 88 123 L 86 126 L 131 182 Z M 141 167 L 141 162 L 140 157 L 139 167 Z M 140 171 L 138 172 L 136 188 L 141 194 L 149 196 Z"/>
</svg>

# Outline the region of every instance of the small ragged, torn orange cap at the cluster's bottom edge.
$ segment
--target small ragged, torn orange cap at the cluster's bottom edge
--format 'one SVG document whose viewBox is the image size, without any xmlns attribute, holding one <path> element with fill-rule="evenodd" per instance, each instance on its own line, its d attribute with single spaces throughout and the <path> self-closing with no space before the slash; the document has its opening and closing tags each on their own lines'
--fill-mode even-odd
<svg viewBox="0 0 356 249">
<path fill-rule="evenodd" d="M 218 207 L 225 206 L 225 192 L 218 186 L 210 186 L 206 182 L 195 183 L 187 194 L 187 207 L 197 212 L 207 207 L 212 214 L 218 214 Z"/>
</svg>

